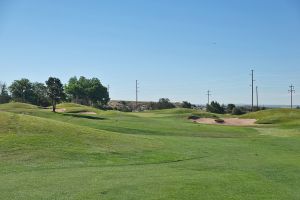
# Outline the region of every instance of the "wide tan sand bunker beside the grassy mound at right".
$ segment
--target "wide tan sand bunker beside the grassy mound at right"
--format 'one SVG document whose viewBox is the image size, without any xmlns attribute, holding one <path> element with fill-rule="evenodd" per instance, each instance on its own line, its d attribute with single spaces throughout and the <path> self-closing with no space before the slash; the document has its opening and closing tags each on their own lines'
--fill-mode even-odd
<svg viewBox="0 0 300 200">
<path fill-rule="evenodd" d="M 200 118 L 193 121 L 200 124 L 218 124 L 229 126 L 253 126 L 256 122 L 256 119 L 222 118 L 222 120 L 224 120 L 222 123 L 216 122 L 213 118 Z"/>
</svg>

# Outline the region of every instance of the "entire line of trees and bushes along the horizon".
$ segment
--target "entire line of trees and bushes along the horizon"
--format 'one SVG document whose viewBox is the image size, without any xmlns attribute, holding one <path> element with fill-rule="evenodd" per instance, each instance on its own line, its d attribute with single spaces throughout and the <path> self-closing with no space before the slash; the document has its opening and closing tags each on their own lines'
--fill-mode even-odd
<svg viewBox="0 0 300 200">
<path fill-rule="evenodd" d="M 54 112 L 56 104 L 61 101 L 127 112 L 138 109 L 135 105 L 131 105 L 125 101 L 122 101 L 121 105 L 118 105 L 116 108 L 107 106 L 110 101 L 108 89 L 101 84 L 98 78 L 88 79 L 84 76 L 79 78 L 76 76 L 71 77 L 65 85 L 61 83 L 60 79 L 55 77 L 49 77 L 45 83 L 31 82 L 26 78 L 13 81 L 10 86 L 0 82 L 0 103 L 8 103 L 10 101 L 30 103 L 42 107 L 52 106 Z M 150 102 L 147 105 L 139 105 L 139 107 L 144 107 L 146 110 L 159 110 L 175 108 L 178 105 L 170 102 L 168 98 L 161 98 L 158 102 Z M 183 101 L 179 107 L 198 108 L 187 101 Z M 297 108 L 300 109 L 299 107 Z M 256 110 L 263 109 L 265 108 L 256 108 Z M 212 101 L 206 105 L 206 111 L 219 114 L 241 115 L 249 112 L 250 108 L 234 104 L 225 106 Z"/>
</svg>

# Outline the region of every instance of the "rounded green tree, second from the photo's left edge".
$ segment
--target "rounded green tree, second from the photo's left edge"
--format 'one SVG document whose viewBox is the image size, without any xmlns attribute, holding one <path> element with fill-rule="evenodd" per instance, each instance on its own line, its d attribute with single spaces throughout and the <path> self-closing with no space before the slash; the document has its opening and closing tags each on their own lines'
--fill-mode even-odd
<svg viewBox="0 0 300 200">
<path fill-rule="evenodd" d="M 32 83 L 26 79 L 22 78 L 20 80 L 15 80 L 10 86 L 9 91 L 11 92 L 12 99 L 21 102 L 32 102 Z"/>
</svg>

